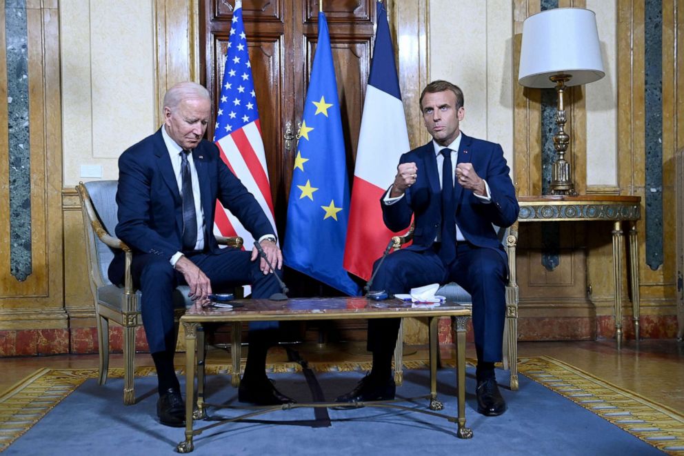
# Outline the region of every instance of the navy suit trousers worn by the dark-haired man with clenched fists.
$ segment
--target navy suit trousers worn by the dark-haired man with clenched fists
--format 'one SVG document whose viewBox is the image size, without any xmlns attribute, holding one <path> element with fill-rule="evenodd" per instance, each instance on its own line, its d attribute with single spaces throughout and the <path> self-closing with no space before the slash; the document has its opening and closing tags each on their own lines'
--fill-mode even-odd
<svg viewBox="0 0 684 456">
<path fill-rule="evenodd" d="M 432 248 L 397 250 L 385 258 L 372 283 L 374 290 L 390 295 L 411 288 L 455 281 L 472 297 L 472 326 L 479 361 L 501 361 L 505 322 L 507 263 L 492 248 L 459 242 L 456 259 L 449 268 Z M 374 264 L 377 268 L 379 260 Z M 368 320 L 368 350 L 391 359 L 400 319 Z"/>
</svg>

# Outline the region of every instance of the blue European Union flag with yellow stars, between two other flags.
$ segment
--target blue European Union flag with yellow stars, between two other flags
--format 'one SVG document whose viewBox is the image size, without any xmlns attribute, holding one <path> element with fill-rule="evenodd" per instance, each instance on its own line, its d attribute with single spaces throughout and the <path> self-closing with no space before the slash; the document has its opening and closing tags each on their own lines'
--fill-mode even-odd
<svg viewBox="0 0 684 456">
<path fill-rule="evenodd" d="M 349 181 L 337 81 L 328 23 L 319 12 L 319 40 L 292 171 L 283 257 L 290 268 L 358 296 L 359 286 L 342 267 L 348 218 Z"/>
</svg>

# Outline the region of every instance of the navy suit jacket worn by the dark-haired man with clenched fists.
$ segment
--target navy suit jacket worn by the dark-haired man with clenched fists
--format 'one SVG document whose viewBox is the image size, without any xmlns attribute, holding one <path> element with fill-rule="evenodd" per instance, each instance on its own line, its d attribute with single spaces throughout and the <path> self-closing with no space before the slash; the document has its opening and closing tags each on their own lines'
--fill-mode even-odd
<svg viewBox="0 0 684 456">
<path fill-rule="evenodd" d="M 515 188 L 510 179 L 510 169 L 503 157 L 499 144 L 466 136 L 461 132 L 458 163 L 472 163 L 473 169 L 487 181 L 492 200 L 485 203 L 472 190 L 465 190 L 454 184 L 456 201 L 456 223 L 463 237 L 470 244 L 499 250 L 505 256 L 501 241 L 492 224 L 507 228 L 514 224 L 520 210 L 515 197 Z M 385 225 L 392 231 L 408 228 L 414 215 L 412 250 L 430 248 L 438 232 L 441 232 L 441 176 L 432 141 L 399 159 L 399 163 L 415 162 L 418 168 L 416 183 L 406 189 L 404 197 L 396 203 L 381 206 Z M 389 191 L 389 190 L 388 190 Z"/>
</svg>

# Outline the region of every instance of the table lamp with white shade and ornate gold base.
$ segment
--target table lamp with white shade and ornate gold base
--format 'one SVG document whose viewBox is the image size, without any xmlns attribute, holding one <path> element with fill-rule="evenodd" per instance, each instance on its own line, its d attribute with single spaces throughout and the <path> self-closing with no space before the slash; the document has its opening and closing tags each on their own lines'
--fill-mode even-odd
<svg viewBox="0 0 684 456">
<path fill-rule="evenodd" d="M 593 11 L 555 8 L 525 19 L 518 82 L 530 88 L 555 87 L 558 93 L 559 131 L 554 135 L 558 157 L 552 168 L 552 195 L 576 195 L 570 179 L 570 163 L 565 160 L 570 136 L 563 131 L 563 92 L 566 87 L 598 81 L 604 75 Z"/>
</svg>

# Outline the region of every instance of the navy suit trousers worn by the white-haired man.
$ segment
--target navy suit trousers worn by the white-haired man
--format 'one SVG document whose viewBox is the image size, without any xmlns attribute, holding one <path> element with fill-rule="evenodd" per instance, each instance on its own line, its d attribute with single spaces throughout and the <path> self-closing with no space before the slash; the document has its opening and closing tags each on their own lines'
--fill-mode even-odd
<svg viewBox="0 0 684 456">
<path fill-rule="evenodd" d="M 273 274 L 264 275 L 259 269 L 259 260 L 251 261 L 252 252 L 235 248 L 222 248 L 217 252 L 188 254 L 210 279 L 212 290 L 225 290 L 233 286 L 252 285 L 252 297 L 268 298 L 280 291 Z M 142 292 L 141 313 L 150 353 L 168 351 L 175 347 L 174 288 L 185 284 L 183 275 L 172 268 L 169 261 L 152 254 L 134 255 L 131 273 L 134 286 Z M 280 274 L 280 271 L 276 273 Z M 278 327 L 277 321 L 263 321 L 250 324 L 250 340 L 259 338 L 255 332 L 267 333 Z M 269 336 L 270 337 L 270 336 Z"/>
</svg>

